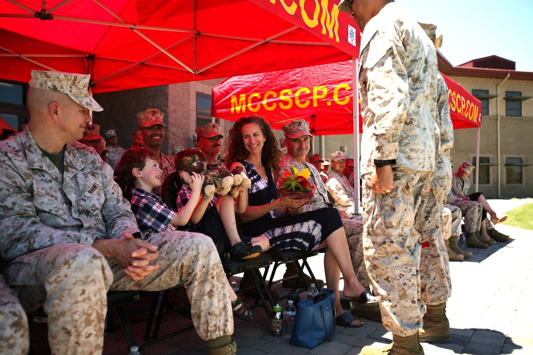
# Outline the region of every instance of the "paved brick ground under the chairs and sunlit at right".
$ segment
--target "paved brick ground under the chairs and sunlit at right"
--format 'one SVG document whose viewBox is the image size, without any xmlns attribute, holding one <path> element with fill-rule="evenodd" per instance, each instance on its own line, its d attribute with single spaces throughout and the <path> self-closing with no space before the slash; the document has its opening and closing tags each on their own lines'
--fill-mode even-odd
<svg viewBox="0 0 533 355">
<path fill-rule="evenodd" d="M 489 201 L 498 214 L 528 202 L 533 200 Z M 451 263 L 453 296 L 447 304 L 451 342 L 424 344 L 426 354 L 533 354 L 533 231 L 506 225 L 500 225 L 497 229 L 514 239 L 509 243 L 497 243 L 488 249 L 467 248 L 474 254 L 472 258 Z M 314 256 L 310 261 L 317 278 L 324 279 L 322 255 Z M 282 274 L 284 268 L 280 269 L 279 273 Z M 282 289 L 282 292 L 286 293 L 288 289 Z M 138 312 L 143 306 L 149 307 L 149 304 L 149 301 L 137 303 L 133 310 Z M 365 326 L 337 327 L 334 341 L 326 341 L 309 350 L 289 345 L 284 338 L 271 336 L 266 313 L 262 309 L 256 309 L 256 312 L 257 318 L 253 321 L 235 322 L 233 337 L 237 341 L 239 354 L 354 355 L 359 353 L 362 346 L 389 343 L 392 339 L 391 333 L 381 323 L 361 318 Z M 168 314 L 160 334 L 189 324 L 190 321 L 182 316 Z M 145 325 L 144 321 L 132 325 L 139 344 L 143 342 Z M 197 355 L 206 354 L 207 349 L 205 342 L 192 330 L 150 345 L 144 353 Z M 106 336 L 104 354 L 127 354 L 120 330 Z"/>
</svg>

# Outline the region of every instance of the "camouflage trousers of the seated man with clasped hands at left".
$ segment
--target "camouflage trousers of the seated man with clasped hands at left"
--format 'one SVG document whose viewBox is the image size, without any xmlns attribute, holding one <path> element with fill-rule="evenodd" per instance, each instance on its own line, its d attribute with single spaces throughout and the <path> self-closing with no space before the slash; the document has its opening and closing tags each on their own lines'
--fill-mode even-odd
<svg viewBox="0 0 533 355">
<path fill-rule="evenodd" d="M 101 353 L 108 289 L 160 291 L 184 283 L 193 324 L 201 338 L 233 333 L 224 270 L 211 238 L 163 232 L 148 241 L 159 247 L 159 268 L 140 281 L 91 246 L 60 244 L 23 255 L 3 273 L 28 311 L 43 306 L 52 353 Z"/>
</svg>

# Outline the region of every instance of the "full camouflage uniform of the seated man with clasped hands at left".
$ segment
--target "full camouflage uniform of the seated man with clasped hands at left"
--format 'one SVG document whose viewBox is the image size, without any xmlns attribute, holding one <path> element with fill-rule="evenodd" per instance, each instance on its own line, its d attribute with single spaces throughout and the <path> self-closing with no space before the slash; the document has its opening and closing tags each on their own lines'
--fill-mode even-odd
<svg viewBox="0 0 533 355">
<path fill-rule="evenodd" d="M 66 144 L 60 174 L 28 128 L 0 142 L 0 249 L 9 262 L 2 273 L 27 311 L 43 306 L 52 353 L 102 351 L 109 289 L 157 291 L 184 283 L 200 337 L 232 334 L 225 275 L 208 237 L 150 236 L 159 249 L 159 269 L 140 281 L 92 247 L 97 238 L 121 239 L 124 232 L 138 231 L 111 167 L 92 151 Z"/>
</svg>

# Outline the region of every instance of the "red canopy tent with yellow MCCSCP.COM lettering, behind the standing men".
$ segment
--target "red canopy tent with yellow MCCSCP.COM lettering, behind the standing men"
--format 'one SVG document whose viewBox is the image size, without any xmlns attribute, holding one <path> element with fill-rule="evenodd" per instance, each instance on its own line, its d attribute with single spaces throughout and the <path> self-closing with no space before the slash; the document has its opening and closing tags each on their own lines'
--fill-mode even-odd
<svg viewBox="0 0 533 355">
<path fill-rule="evenodd" d="M 481 101 L 443 77 L 454 128 L 479 127 Z M 352 61 L 234 76 L 213 88 L 211 114 L 230 120 L 264 116 L 278 129 L 303 118 L 314 135 L 352 134 L 352 83 Z"/>
</svg>

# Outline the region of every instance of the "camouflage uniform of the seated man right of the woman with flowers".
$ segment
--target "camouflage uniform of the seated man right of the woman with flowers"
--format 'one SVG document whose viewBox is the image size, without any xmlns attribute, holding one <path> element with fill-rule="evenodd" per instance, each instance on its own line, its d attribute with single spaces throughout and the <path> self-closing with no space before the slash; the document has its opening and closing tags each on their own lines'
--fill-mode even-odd
<svg viewBox="0 0 533 355">
<path fill-rule="evenodd" d="M 314 211 L 315 209 L 331 207 L 329 202 L 328 192 L 326 184 L 320 178 L 320 174 L 314 165 L 305 162 L 301 164 L 287 154 L 284 159 L 279 163 L 280 174 L 285 171 L 290 171 L 290 167 L 294 166 L 298 171 L 302 171 L 304 168 L 309 168 L 311 176 L 309 176 L 309 183 L 315 185 L 317 190 L 314 192 L 313 198 L 303 206 L 302 212 Z M 366 271 L 365 260 L 363 256 L 363 245 L 362 245 L 362 230 L 363 230 L 363 219 L 362 216 L 357 216 L 355 218 L 343 218 L 342 225 L 344 227 L 344 232 L 348 238 L 348 247 L 350 249 L 350 255 L 352 257 L 353 270 L 356 272 L 357 279 L 359 283 L 363 286 L 370 285 L 370 280 L 368 279 L 368 273 Z"/>
</svg>

